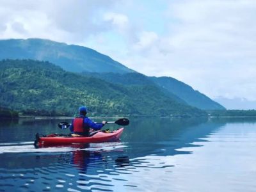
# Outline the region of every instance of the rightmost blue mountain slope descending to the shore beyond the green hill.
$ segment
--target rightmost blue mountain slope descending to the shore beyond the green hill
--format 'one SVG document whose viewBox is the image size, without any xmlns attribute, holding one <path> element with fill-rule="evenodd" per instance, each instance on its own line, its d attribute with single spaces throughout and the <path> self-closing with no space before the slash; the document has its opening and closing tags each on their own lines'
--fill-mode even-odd
<svg viewBox="0 0 256 192">
<path fill-rule="evenodd" d="M 223 106 L 206 95 L 193 90 L 191 86 L 172 77 L 150 77 L 152 81 L 185 100 L 190 106 L 204 110 L 225 110 Z"/>
</svg>

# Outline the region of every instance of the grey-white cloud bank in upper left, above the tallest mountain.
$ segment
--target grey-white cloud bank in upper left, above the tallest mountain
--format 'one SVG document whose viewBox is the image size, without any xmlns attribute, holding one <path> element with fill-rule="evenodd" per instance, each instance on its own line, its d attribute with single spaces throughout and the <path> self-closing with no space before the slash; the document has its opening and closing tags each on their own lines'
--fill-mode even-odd
<svg viewBox="0 0 256 192">
<path fill-rule="evenodd" d="M 113 4 L 115 1 L 104 0 L 27 0 L 18 3 L 17 1 L 3 1 L 0 8 L 0 15 L 4 15 L 0 19 L 1 26 L 2 28 L 10 26 L 10 28 L 8 30 L 5 28 L 6 31 L 1 38 L 37 36 L 64 42 L 82 42 L 90 35 L 109 30 L 100 12 L 108 10 Z M 18 28 L 23 30 L 19 31 L 19 34 L 16 33 Z M 25 34 L 24 31 L 28 33 Z"/>
</svg>

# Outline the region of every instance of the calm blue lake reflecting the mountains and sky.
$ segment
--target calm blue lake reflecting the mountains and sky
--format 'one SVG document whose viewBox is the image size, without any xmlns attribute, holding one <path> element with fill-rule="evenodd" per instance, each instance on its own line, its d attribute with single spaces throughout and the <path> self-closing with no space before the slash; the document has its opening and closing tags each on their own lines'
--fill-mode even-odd
<svg viewBox="0 0 256 192">
<path fill-rule="evenodd" d="M 33 146 L 61 121 L 0 121 L 0 191 L 256 190 L 256 119 L 131 118 L 118 142 Z"/>
</svg>

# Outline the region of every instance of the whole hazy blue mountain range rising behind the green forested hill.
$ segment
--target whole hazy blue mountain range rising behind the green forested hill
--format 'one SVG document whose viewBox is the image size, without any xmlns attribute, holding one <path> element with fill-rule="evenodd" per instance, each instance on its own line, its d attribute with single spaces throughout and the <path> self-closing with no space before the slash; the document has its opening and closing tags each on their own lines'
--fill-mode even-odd
<svg viewBox="0 0 256 192">
<path fill-rule="evenodd" d="M 188 84 L 171 77 L 144 76 L 87 47 L 38 38 L 0 40 L 0 60 L 3 59 L 49 61 L 69 72 L 87 73 L 109 83 L 153 86 L 157 92 L 160 90 L 175 102 L 199 109 L 225 109 L 206 95 L 193 90 Z"/>
</svg>

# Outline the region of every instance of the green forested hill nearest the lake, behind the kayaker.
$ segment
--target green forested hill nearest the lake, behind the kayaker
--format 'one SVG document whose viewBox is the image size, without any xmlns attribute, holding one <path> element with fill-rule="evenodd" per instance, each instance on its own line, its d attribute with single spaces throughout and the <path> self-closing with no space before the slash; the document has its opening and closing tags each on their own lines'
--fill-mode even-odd
<svg viewBox="0 0 256 192">
<path fill-rule="evenodd" d="M 86 105 L 90 116 L 204 116 L 150 84 L 124 86 L 67 72 L 47 61 L 0 61 L 0 103 L 24 115 L 69 115 Z"/>
</svg>

